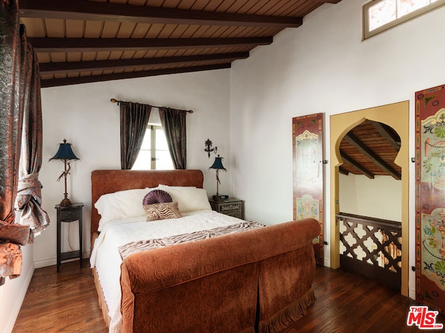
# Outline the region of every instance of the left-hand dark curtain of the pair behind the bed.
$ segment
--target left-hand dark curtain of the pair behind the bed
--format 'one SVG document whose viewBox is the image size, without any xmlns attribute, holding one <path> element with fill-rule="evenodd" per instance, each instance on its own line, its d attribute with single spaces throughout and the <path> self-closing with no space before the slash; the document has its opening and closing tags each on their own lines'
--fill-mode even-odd
<svg viewBox="0 0 445 333">
<path fill-rule="evenodd" d="M 130 170 L 143 142 L 152 106 L 133 102 L 120 103 L 120 165 Z"/>
</svg>

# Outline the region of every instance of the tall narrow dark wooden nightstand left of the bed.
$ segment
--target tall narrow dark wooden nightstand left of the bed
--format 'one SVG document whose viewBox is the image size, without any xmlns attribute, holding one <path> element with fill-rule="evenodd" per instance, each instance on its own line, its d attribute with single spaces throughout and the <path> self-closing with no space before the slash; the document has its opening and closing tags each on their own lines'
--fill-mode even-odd
<svg viewBox="0 0 445 333">
<path fill-rule="evenodd" d="M 57 210 L 57 272 L 60 271 L 62 260 L 79 258 L 82 267 L 82 207 L 83 203 L 73 203 L 70 206 L 56 205 Z M 60 239 L 62 222 L 71 223 L 79 221 L 79 250 L 60 253 Z"/>
</svg>

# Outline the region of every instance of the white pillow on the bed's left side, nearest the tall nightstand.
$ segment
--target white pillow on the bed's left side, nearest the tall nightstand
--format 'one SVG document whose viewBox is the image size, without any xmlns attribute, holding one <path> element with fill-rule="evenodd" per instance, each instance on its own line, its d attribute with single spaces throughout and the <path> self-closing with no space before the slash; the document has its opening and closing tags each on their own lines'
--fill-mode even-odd
<svg viewBox="0 0 445 333">
<path fill-rule="evenodd" d="M 101 216 L 97 230 L 102 231 L 105 223 L 109 221 L 145 216 L 142 202 L 145 194 L 151 190 L 127 189 L 101 196 L 95 203 L 97 212 Z"/>
</svg>

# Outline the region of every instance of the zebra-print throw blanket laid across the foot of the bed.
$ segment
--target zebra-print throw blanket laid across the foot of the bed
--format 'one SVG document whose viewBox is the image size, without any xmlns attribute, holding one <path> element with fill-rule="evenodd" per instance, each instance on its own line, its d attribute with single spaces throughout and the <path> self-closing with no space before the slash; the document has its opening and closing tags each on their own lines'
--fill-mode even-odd
<svg viewBox="0 0 445 333">
<path fill-rule="evenodd" d="M 224 234 L 232 234 L 234 232 L 263 228 L 265 226 L 266 225 L 253 221 L 243 221 L 238 224 L 225 225 L 223 227 L 213 228 L 209 230 L 200 230 L 187 234 L 178 234 L 176 236 L 165 238 L 149 239 L 147 241 L 132 241 L 131 243 L 119 246 L 118 250 L 123 260 L 133 253 L 139 253 L 145 250 L 152 250 L 154 248 L 161 248 L 163 246 L 186 243 L 188 241 L 198 241 L 200 239 L 213 238 L 223 236 Z"/>
</svg>

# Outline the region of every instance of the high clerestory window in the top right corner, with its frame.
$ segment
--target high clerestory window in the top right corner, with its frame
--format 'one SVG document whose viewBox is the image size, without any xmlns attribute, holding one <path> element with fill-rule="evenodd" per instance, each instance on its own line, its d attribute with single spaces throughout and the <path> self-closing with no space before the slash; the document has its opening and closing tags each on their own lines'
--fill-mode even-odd
<svg viewBox="0 0 445 333">
<path fill-rule="evenodd" d="M 374 0 L 363 6 L 363 39 L 445 4 L 445 0 Z"/>
</svg>

